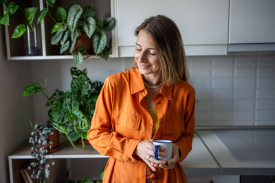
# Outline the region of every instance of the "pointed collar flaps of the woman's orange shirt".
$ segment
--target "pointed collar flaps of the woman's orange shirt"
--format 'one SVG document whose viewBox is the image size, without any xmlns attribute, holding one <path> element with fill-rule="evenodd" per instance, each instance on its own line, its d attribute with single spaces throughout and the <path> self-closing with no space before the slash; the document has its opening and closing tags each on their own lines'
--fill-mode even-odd
<svg viewBox="0 0 275 183">
<path fill-rule="evenodd" d="M 138 69 L 131 69 L 130 71 L 130 87 L 131 87 L 131 95 L 134 93 L 138 93 L 142 90 L 145 90 L 145 86 L 142 79 L 142 74 Z M 162 85 L 162 89 L 160 92 L 164 97 L 168 100 L 172 99 L 173 87 Z"/>
</svg>

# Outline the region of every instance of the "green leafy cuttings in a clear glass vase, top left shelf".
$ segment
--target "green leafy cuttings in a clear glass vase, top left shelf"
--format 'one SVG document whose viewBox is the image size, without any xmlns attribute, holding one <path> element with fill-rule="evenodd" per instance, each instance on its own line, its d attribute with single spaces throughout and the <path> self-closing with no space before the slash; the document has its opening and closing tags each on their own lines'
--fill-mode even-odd
<svg viewBox="0 0 275 183">
<path fill-rule="evenodd" d="M 47 14 L 52 21 L 58 25 L 56 19 L 58 21 L 63 21 L 64 14 L 66 13 L 64 8 L 58 6 L 56 10 L 56 19 L 54 19 L 54 16 L 50 14 L 49 8 L 54 7 L 55 0 L 45 0 L 46 8 L 43 8 L 40 12 L 39 7 L 32 6 L 25 8 L 25 3 L 21 3 L 24 7 L 22 8 L 21 5 L 17 3 L 8 3 L 7 0 L 1 0 L 0 2 L 6 7 L 3 15 L 0 16 L 0 23 L 3 25 L 10 25 L 10 16 L 16 13 L 17 10 L 21 10 L 25 19 L 14 29 L 12 38 L 19 38 L 24 35 L 25 55 L 41 55 L 41 33 L 40 27 L 37 25 L 41 23 Z M 56 25 L 52 28 L 52 33 L 58 29 Z M 27 32 L 27 34 L 25 34 L 25 32 Z"/>
</svg>

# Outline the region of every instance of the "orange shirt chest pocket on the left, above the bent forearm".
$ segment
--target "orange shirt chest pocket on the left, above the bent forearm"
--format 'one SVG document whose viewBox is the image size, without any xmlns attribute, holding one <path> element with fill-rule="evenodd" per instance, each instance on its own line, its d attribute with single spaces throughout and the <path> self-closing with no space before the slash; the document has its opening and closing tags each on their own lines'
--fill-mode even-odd
<svg viewBox="0 0 275 183">
<path fill-rule="evenodd" d="M 131 130 L 139 130 L 142 117 L 137 114 L 130 114 L 126 112 L 114 112 L 113 122 L 115 125 L 129 128 Z"/>
</svg>

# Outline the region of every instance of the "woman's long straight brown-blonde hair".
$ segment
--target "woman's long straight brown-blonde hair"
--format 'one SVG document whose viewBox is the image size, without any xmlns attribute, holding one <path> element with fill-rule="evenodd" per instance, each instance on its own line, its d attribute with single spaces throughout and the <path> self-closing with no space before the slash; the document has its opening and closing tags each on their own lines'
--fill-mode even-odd
<svg viewBox="0 0 275 183">
<path fill-rule="evenodd" d="M 138 26 L 135 36 L 138 36 L 140 30 L 151 34 L 155 42 L 164 84 L 170 86 L 180 80 L 190 82 L 184 44 L 177 25 L 168 17 L 157 15 Z"/>
</svg>

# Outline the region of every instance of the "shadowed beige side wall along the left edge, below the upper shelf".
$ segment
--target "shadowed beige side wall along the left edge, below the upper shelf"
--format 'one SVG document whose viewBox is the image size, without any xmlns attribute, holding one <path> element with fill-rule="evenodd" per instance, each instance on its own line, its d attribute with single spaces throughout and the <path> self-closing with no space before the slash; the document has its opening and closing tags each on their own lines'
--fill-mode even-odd
<svg viewBox="0 0 275 183">
<path fill-rule="evenodd" d="M 31 98 L 22 97 L 31 82 L 30 61 L 7 60 L 4 27 L 0 26 L 0 182 L 9 182 L 8 155 L 30 134 Z"/>
</svg>

